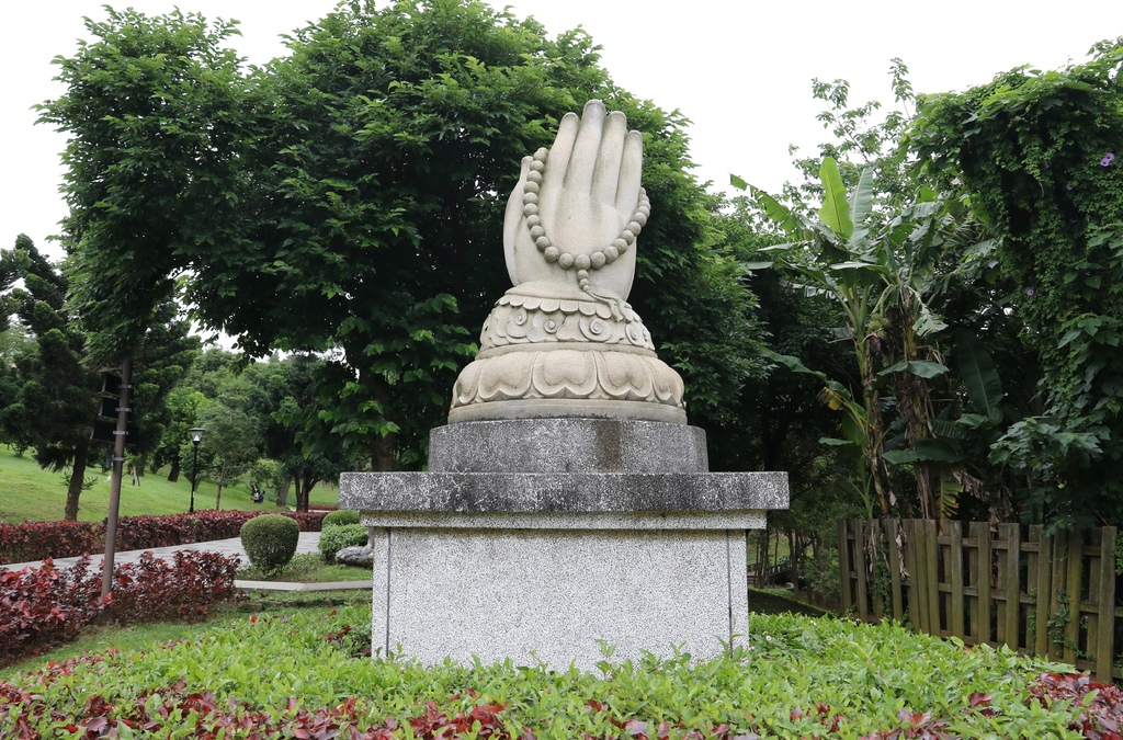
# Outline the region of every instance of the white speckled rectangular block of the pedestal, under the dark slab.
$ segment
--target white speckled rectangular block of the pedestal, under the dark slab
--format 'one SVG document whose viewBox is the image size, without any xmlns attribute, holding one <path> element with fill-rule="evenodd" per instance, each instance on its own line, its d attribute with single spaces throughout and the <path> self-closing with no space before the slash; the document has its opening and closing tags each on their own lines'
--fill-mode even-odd
<svg viewBox="0 0 1123 740">
<path fill-rule="evenodd" d="M 375 655 L 592 670 L 602 645 L 705 659 L 745 639 L 743 529 L 600 526 L 372 527 Z"/>
</svg>

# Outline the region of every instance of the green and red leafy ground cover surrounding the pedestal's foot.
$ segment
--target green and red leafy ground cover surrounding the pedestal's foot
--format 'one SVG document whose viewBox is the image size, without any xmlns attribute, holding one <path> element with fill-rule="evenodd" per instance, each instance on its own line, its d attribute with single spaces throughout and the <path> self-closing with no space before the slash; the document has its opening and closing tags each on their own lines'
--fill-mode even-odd
<svg viewBox="0 0 1123 740">
<path fill-rule="evenodd" d="M 228 738 L 527 740 L 1110 731 L 1079 705 L 1098 701 L 1086 680 L 1053 679 L 1071 703 L 1050 700 L 1058 691 L 1041 675 L 1065 667 L 888 624 L 754 615 L 751 648 L 733 659 L 649 658 L 582 674 L 372 660 L 359 655 L 369 614 L 366 603 L 243 615 L 172 645 L 47 664 L 0 684 L 0 737 L 34 737 L 25 727 L 43 737 L 204 738 L 226 728 Z"/>
</svg>

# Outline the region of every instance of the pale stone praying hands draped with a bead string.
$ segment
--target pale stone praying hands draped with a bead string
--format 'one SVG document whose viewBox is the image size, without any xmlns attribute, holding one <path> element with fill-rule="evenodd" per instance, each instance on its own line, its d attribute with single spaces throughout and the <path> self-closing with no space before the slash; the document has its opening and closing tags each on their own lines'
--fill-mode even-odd
<svg viewBox="0 0 1123 740">
<path fill-rule="evenodd" d="M 506 269 L 520 294 L 628 299 L 636 237 L 650 214 L 642 164 L 642 136 L 600 100 L 579 119 L 566 113 L 548 153 L 523 157 L 503 223 Z"/>
</svg>

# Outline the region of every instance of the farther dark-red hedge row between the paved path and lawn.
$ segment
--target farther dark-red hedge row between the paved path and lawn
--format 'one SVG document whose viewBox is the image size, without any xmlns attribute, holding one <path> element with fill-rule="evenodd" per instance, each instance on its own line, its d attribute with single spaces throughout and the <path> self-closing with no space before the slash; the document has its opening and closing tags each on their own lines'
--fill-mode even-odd
<svg viewBox="0 0 1123 740">
<path fill-rule="evenodd" d="M 262 511 L 203 510 L 193 514 L 121 517 L 117 522 L 118 550 L 146 550 L 238 537 L 241 526 Z M 296 520 L 303 532 L 320 531 L 323 512 L 282 512 Z M 104 522 L 0 523 L 0 565 L 47 558 L 69 558 L 106 549 Z"/>
</svg>

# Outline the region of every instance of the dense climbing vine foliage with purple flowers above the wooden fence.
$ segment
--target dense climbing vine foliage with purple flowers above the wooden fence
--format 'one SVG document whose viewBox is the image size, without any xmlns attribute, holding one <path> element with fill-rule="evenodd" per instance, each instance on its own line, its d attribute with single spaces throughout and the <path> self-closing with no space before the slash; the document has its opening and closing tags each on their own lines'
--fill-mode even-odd
<svg viewBox="0 0 1123 740">
<path fill-rule="evenodd" d="M 1003 308 L 1040 357 L 1038 409 L 993 459 L 1053 524 L 1123 517 L 1123 67 L 1121 42 L 1060 71 L 1020 67 L 921 99 L 909 143 L 925 172 L 960 181 L 1001 236 Z"/>
</svg>

